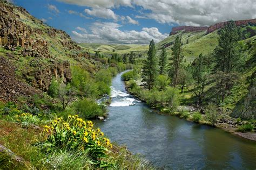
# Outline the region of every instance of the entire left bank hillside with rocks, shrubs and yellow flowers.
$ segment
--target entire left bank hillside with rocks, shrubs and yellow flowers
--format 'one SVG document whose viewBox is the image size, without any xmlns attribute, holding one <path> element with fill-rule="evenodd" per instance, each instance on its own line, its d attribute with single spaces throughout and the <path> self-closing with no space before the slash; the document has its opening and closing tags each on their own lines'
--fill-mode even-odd
<svg viewBox="0 0 256 170">
<path fill-rule="evenodd" d="M 25 9 L 0 6 L 0 169 L 152 168 L 90 121 L 106 116 L 97 100 L 133 55 L 89 53 Z"/>
</svg>

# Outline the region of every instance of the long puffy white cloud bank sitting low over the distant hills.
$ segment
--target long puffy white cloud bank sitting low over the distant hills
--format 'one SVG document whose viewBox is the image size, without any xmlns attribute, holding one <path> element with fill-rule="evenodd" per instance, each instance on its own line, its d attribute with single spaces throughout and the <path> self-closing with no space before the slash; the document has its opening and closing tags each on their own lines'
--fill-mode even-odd
<svg viewBox="0 0 256 170">
<path fill-rule="evenodd" d="M 144 27 L 142 31 L 121 31 L 122 25 L 117 23 L 93 23 L 91 33 L 72 31 L 72 38 L 79 42 L 101 42 L 108 44 L 147 44 L 152 39 L 155 42 L 163 40 L 168 35 L 162 34 L 156 27 Z"/>
</svg>

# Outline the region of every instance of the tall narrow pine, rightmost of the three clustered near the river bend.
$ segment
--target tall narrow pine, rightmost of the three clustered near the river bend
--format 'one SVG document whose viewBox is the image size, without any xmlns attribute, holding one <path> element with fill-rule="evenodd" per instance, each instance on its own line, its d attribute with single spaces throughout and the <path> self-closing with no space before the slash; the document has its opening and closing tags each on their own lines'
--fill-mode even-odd
<svg viewBox="0 0 256 170">
<path fill-rule="evenodd" d="M 178 75 L 179 75 L 179 69 L 180 69 L 180 63 L 183 60 L 183 55 L 181 55 L 182 51 L 182 44 L 181 44 L 181 36 L 177 36 L 174 42 L 174 45 L 172 47 L 172 56 L 170 60 L 170 76 L 172 78 L 172 84 L 173 87 L 176 87 L 178 83 Z"/>
</svg>

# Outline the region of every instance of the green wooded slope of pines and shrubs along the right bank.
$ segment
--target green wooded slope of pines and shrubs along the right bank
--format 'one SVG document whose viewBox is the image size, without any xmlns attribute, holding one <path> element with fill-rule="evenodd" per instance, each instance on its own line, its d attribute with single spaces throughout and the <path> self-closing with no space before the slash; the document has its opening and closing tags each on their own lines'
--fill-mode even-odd
<svg viewBox="0 0 256 170">
<path fill-rule="evenodd" d="M 214 50 L 200 53 L 193 62 L 186 61 L 182 32 L 170 53 L 162 47 L 157 54 L 152 40 L 146 59 L 138 59 L 136 68 L 123 74 L 126 87 L 166 114 L 232 131 L 253 132 L 255 98 L 247 98 L 247 105 L 241 101 L 248 93 L 246 88 L 250 93 L 255 84 L 255 36 L 244 40 L 241 30 L 233 21 L 228 22 L 218 31 Z M 243 108 L 243 114 L 238 115 L 237 108 Z"/>
</svg>

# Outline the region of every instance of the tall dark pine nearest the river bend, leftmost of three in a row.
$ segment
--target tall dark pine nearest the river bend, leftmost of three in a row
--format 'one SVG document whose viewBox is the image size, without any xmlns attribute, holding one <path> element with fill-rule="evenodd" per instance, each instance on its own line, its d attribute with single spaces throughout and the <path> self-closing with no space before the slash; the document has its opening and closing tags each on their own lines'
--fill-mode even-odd
<svg viewBox="0 0 256 170">
<path fill-rule="evenodd" d="M 154 41 L 150 41 L 149 52 L 147 58 L 143 60 L 142 78 L 147 83 L 149 90 L 152 89 L 153 83 L 157 76 L 157 59 L 156 59 L 156 46 Z"/>
</svg>

